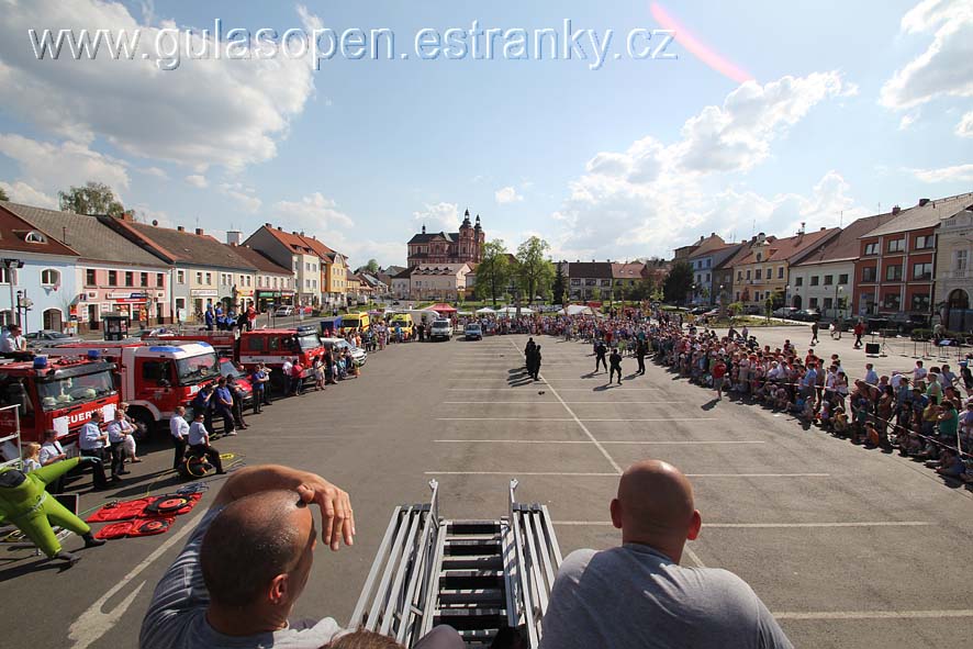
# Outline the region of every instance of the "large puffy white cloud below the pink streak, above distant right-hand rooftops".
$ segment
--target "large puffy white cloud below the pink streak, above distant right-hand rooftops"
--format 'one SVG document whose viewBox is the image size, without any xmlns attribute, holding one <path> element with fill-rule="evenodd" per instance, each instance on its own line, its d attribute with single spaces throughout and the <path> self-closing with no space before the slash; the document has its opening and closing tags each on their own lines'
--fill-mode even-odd
<svg viewBox="0 0 973 649">
<path fill-rule="evenodd" d="M 845 94 L 837 72 L 747 82 L 722 107 L 686 120 L 675 143 L 649 136 L 625 152 L 595 155 L 552 214 L 560 231 L 549 239 L 555 253 L 568 259 L 668 257 L 704 231 L 736 240 L 754 228 L 783 235 L 801 222 L 808 230 L 837 225 L 842 211 L 848 223 L 855 210 L 837 171 L 807 194 L 765 197 L 736 189 L 727 178 L 765 160 L 772 143 L 814 105 Z"/>
</svg>

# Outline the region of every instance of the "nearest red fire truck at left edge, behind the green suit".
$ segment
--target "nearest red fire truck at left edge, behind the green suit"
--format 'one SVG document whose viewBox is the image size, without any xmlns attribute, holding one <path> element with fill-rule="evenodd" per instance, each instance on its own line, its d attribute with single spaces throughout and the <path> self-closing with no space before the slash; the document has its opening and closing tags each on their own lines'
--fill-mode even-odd
<svg viewBox="0 0 973 649">
<path fill-rule="evenodd" d="M 54 429 L 65 449 L 72 448 L 93 411 L 115 416 L 114 370 L 112 362 L 87 358 L 0 359 L 0 407 L 15 406 L 0 411 L 0 437 L 16 432 L 19 417 L 22 441 L 43 443 L 44 432 Z"/>
</svg>

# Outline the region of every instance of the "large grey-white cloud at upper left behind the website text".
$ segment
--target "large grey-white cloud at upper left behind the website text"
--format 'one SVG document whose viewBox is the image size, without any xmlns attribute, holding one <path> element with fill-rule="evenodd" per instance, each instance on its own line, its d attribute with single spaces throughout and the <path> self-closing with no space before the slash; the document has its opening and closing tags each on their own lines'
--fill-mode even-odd
<svg viewBox="0 0 973 649">
<path fill-rule="evenodd" d="M 302 15 L 313 22 L 306 11 Z M 57 60 L 37 61 L 26 42 L 32 27 L 141 29 L 142 41 L 132 60 L 102 52 L 96 60 L 76 61 L 65 48 Z M 22 46 L 7 47 L 0 57 L 4 108 L 74 142 L 104 137 L 127 154 L 197 168 L 238 169 L 275 157 L 277 142 L 314 91 L 310 61 L 223 56 L 181 60 L 177 70 L 165 71 L 142 58 L 158 34 L 159 26 L 141 24 L 116 1 L 7 0 L 0 41 Z M 193 38 L 200 51 L 201 36 Z"/>
</svg>

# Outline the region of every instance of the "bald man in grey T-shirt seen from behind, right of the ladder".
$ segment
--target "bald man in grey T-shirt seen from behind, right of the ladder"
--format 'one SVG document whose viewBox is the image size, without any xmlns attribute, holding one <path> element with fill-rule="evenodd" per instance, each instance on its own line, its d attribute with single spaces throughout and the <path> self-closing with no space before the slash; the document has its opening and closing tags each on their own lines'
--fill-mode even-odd
<svg viewBox="0 0 973 649">
<path fill-rule="evenodd" d="M 679 469 L 658 460 L 633 465 L 611 512 L 622 547 L 564 559 L 541 649 L 792 647 L 740 578 L 679 564 L 685 541 L 702 526 L 693 488 Z"/>
</svg>

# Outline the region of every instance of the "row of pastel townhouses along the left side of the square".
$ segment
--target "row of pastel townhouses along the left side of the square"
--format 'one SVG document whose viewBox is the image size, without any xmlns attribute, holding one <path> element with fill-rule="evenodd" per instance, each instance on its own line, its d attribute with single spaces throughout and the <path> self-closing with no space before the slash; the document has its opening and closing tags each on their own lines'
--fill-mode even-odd
<svg viewBox="0 0 973 649">
<path fill-rule="evenodd" d="M 198 322 L 210 305 L 345 306 L 382 283 L 314 236 L 269 223 L 226 242 L 202 228 L 0 201 L 0 322 L 92 331 L 104 314 Z M 7 289 L 7 290 L 4 290 Z M 9 293 L 8 293 L 9 291 Z"/>
</svg>

